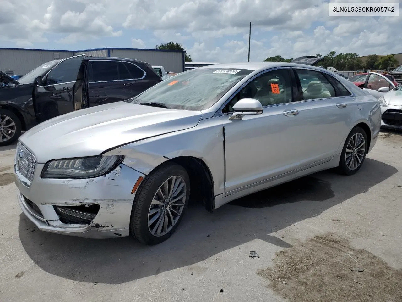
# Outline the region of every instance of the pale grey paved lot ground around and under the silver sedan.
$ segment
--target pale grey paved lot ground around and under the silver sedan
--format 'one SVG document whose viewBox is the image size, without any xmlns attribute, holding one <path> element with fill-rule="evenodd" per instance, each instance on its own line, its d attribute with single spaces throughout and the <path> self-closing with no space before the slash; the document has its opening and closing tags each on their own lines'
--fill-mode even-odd
<svg viewBox="0 0 402 302">
<path fill-rule="evenodd" d="M 0 147 L 0 301 L 402 301 L 398 133 L 353 176 L 320 172 L 214 213 L 191 205 L 152 247 L 37 230 L 16 201 L 14 149 Z"/>
</svg>

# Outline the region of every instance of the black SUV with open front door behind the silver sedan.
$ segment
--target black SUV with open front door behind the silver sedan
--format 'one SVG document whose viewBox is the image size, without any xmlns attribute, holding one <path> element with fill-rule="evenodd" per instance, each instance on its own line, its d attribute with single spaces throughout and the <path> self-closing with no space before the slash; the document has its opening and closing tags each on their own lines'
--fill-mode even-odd
<svg viewBox="0 0 402 302">
<path fill-rule="evenodd" d="M 0 71 L 0 146 L 45 120 L 129 99 L 161 81 L 148 63 L 85 54 L 42 64 L 18 81 Z"/>
</svg>

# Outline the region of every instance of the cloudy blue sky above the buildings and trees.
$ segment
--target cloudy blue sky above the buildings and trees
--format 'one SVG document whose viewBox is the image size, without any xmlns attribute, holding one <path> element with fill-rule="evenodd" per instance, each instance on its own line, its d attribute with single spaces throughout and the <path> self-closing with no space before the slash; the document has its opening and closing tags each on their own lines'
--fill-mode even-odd
<svg viewBox="0 0 402 302">
<path fill-rule="evenodd" d="M 400 17 L 328 17 L 331 3 L 400 2 Z M 402 0 L 0 0 L 0 47 L 84 50 L 181 43 L 193 61 L 402 52 Z M 1 59 L 1 58 L 0 58 Z"/>
</svg>

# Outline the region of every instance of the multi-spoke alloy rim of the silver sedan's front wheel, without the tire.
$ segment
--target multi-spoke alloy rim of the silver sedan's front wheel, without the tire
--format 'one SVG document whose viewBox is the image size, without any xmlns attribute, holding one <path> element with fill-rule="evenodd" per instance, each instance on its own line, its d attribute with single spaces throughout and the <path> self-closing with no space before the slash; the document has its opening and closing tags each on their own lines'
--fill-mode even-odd
<svg viewBox="0 0 402 302">
<path fill-rule="evenodd" d="M 148 211 L 148 229 L 153 236 L 166 235 L 180 218 L 186 201 L 186 183 L 171 176 L 158 188 Z"/>
</svg>

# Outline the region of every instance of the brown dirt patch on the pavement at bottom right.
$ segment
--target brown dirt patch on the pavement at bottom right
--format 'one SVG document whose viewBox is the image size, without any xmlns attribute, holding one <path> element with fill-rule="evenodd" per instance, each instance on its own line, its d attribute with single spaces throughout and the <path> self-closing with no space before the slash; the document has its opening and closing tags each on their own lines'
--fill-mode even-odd
<svg viewBox="0 0 402 302">
<path fill-rule="evenodd" d="M 346 253 L 360 263 L 359 268 L 364 267 L 364 274 L 351 273 L 354 262 Z M 277 252 L 273 266 L 258 275 L 288 302 L 402 301 L 402 269 L 390 267 L 367 250 L 353 248 L 348 240 L 334 234 L 316 236 Z"/>
</svg>

